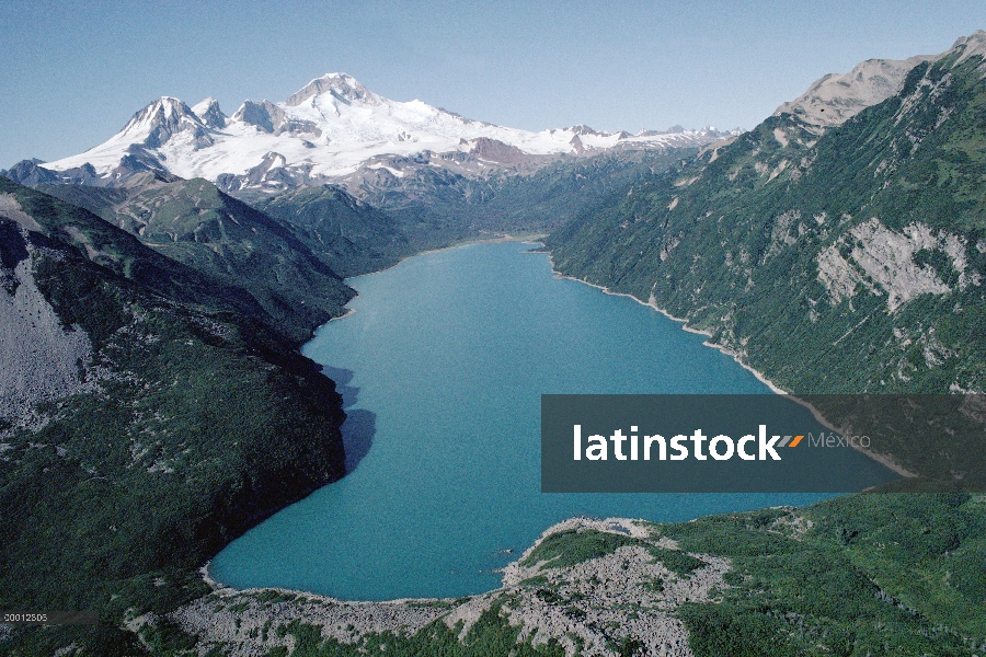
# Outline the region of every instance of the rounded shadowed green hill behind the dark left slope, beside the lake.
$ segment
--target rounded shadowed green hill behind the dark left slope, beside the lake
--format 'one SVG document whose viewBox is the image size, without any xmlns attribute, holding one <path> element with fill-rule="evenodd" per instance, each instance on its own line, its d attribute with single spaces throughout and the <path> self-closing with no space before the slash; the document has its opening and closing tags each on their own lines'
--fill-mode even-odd
<svg viewBox="0 0 986 657">
<path fill-rule="evenodd" d="M 267 215 L 203 180 L 162 181 L 146 174 L 128 188 L 45 185 L 138 237 L 146 245 L 236 289 L 252 314 L 296 343 L 342 314 L 353 290 L 296 234 Z M 246 302 L 241 302 L 245 308 Z"/>
</svg>

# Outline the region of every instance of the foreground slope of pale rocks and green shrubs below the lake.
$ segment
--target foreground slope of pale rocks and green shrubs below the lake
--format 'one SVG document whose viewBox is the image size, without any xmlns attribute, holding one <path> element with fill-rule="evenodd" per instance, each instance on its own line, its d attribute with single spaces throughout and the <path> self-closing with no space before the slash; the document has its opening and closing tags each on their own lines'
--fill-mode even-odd
<svg viewBox="0 0 986 657">
<path fill-rule="evenodd" d="M 667 525 L 578 518 L 547 530 L 480 596 L 218 589 L 134 626 L 149 642 L 177 626 L 197 654 L 236 657 L 971 656 L 986 649 L 984 530 L 984 500 L 963 495 L 850 496 Z"/>
</svg>

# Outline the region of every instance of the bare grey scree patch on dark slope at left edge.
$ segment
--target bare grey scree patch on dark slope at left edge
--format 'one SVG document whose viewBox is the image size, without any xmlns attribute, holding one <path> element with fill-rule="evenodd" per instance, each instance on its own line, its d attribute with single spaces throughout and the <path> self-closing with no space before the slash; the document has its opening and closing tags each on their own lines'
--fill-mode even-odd
<svg viewBox="0 0 986 657">
<path fill-rule="evenodd" d="M 16 199 L 0 195 L 0 417 L 28 422 L 38 402 L 83 392 L 80 378 L 92 358 L 89 336 L 64 326 L 34 280 L 34 257 L 58 257 L 34 246 Z M 91 384 L 90 384 L 91 385 Z"/>
</svg>

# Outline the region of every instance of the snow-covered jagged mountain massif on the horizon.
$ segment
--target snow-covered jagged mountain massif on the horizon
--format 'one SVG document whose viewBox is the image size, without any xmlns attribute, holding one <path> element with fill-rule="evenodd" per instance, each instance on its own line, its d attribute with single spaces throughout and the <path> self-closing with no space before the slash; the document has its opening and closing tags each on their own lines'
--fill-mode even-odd
<svg viewBox="0 0 986 657">
<path fill-rule="evenodd" d="M 330 73 L 283 103 L 245 101 L 231 117 L 214 99 L 190 107 L 163 96 L 106 142 L 44 166 L 67 171 L 88 164 L 106 183 L 149 168 L 186 178 L 222 178 L 227 186 L 236 180 L 241 187 L 260 181 L 276 187 L 337 180 L 370 161 L 379 168 L 390 157 L 423 152 L 468 153 L 504 165 L 614 148 L 702 146 L 726 135 L 713 128 L 609 134 L 586 126 L 532 132 L 470 120 L 421 101 L 391 101 L 351 76 Z M 391 173 L 400 176 L 398 170 Z"/>
</svg>

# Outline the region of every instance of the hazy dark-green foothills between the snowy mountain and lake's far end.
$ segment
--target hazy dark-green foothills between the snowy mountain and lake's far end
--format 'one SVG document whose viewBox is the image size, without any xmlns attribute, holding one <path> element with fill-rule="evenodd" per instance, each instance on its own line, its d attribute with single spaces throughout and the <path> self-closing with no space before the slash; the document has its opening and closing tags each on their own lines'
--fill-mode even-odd
<svg viewBox="0 0 986 657">
<path fill-rule="evenodd" d="M 274 194 L 241 192 L 251 205 L 203 178 L 184 181 L 159 171 L 133 174 L 112 187 L 65 183 L 33 162 L 18 172 L 35 181 L 37 189 L 239 288 L 268 323 L 302 342 L 313 326 L 341 314 L 351 298 L 337 276 L 377 270 L 458 241 L 543 233 L 695 152 L 564 157 L 534 172 L 500 172 L 483 180 L 404 162 L 395 164 L 408 166 L 399 187 L 364 180 L 356 192 L 366 200 L 341 185 L 302 184 Z"/>
</svg>

